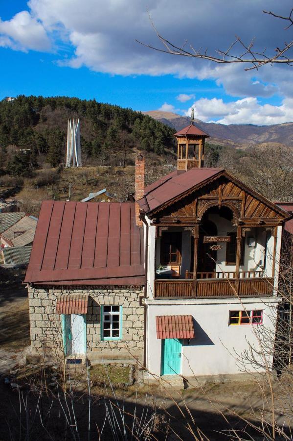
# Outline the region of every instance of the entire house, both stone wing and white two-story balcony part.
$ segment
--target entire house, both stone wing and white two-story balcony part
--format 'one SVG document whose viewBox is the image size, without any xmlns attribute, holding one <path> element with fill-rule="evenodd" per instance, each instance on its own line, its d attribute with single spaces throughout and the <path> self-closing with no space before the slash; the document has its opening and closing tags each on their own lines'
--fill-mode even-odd
<svg viewBox="0 0 293 441">
<path fill-rule="evenodd" d="M 207 136 L 193 122 L 176 133 L 177 170 L 146 188 L 137 155 L 135 202 L 43 202 L 25 277 L 35 351 L 231 374 L 253 327 L 274 331 L 291 216 L 205 168 Z"/>
</svg>

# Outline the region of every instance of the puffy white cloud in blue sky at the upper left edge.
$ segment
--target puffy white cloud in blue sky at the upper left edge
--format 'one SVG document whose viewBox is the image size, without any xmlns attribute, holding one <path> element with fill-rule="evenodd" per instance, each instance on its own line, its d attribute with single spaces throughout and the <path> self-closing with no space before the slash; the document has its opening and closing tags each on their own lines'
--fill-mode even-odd
<svg viewBox="0 0 293 441">
<path fill-rule="evenodd" d="M 22 51 L 46 51 L 51 44 L 44 26 L 29 12 L 22 11 L 11 20 L 0 19 L 0 46 Z"/>
</svg>

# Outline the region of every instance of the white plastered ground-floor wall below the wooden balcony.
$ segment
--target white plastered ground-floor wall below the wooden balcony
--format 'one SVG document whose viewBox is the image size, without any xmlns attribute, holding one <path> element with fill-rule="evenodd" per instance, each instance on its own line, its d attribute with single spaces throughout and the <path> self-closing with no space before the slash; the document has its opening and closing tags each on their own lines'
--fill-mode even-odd
<svg viewBox="0 0 293 441">
<path fill-rule="evenodd" d="M 241 370 L 236 358 L 248 342 L 258 346 L 254 330 L 275 329 L 278 299 L 243 299 L 247 310 L 263 312 L 263 325 L 228 325 L 229 311 L 242 310 L 238 299 L 198 299 L 148 301 L 147 306 L 147 366 L 151 374 L 160 375 L 161 342 L 157 339 L 156 316 L 192 315 L 195 339 L 183 341 L 181 373 L 184 376 L 236 374 Z M 272 334 L 273 335 L 273 334 Z M 272 359 L 269 358 L 269 365 Z M 252 370 L 252 367 L 248 367 Z"/>
</svg>

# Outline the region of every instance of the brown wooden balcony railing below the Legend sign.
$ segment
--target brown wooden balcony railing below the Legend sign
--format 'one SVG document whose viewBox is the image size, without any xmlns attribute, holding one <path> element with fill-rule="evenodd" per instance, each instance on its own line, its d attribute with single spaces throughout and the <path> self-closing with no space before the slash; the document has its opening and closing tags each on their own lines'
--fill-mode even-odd
<svg viewBox="0 0 293 441">
<path fill-rule="evenodd" d="M 272 278 L 155 280 L 156 298 L 260 297 L 272 294 Z"/>
</svg>

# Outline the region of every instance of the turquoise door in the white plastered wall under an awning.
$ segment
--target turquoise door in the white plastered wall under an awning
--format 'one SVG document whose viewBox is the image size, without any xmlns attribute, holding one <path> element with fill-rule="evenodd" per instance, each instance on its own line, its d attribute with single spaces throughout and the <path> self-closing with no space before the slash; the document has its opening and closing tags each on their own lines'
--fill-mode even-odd
<svg viewBox="0 0 293 441">
<path fill-rule="evenodd" d="M 181 346 L 179 339 L 162 340 L 161 375 L 181 373 Z"/>
</svg>

